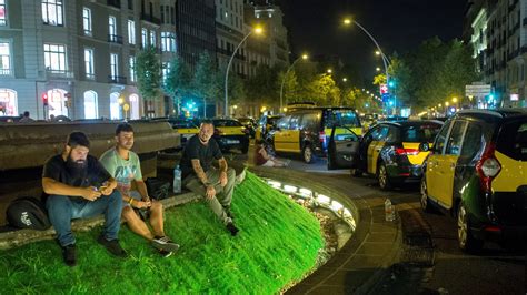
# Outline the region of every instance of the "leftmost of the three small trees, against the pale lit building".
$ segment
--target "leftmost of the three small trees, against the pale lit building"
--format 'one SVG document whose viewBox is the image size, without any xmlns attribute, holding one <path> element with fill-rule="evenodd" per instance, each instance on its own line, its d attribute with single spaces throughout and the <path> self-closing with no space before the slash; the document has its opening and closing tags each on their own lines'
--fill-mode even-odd
<svg viewBox="0 0 527 295">
<path fill-rule="evenodd" d="M 151 102 L 161 94 L 161 67 L 156 48 L 149 47 L 139 52 L 136 61 L 137 87 L 141 93 L 147 112 L 151 112 Z"/>
</svg>

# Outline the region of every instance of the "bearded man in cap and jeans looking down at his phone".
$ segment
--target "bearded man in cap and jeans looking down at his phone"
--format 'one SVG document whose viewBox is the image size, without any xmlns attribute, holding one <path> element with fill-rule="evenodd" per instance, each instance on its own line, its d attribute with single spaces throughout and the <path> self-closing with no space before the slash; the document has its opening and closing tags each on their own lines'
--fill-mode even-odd
<svg viewBox="0 0 527 295">
<path fill-rule="evenodd" d="M 127 256 L 118 240 L 121 194 L 113 190 L 116 180 L 97 157 L 88 154 L 89 151 L 88 136 L 79 131 L 71 132 L 62 154 L 48 159 L 42 172 L 43 191 L 49 195 L 46 202 L 49 220 L 69 266 L 77 264 L 71 220 L 98 214 L 105 214 L 105 230 L 97 242 L 116 256 Z"/>
</svg>

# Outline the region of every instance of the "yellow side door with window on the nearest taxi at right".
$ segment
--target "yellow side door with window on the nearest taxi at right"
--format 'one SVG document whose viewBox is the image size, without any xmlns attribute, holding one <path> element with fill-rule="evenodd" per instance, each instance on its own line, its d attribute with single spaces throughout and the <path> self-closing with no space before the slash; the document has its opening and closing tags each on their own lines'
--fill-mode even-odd
<svg viewBox="0 0 527 295">
<path fill-rule="evenodd" d="M 427 160 L 426 182 L 428 195 L 448 210 L 454 204 L 454 176 L 466 126 L 466 122 L 455 121 L 448 136 L 445 136 L 446 129 L 441 130 L 436 140 L 435 152 Z M 445 149 L 440 152 L 443 148 Z"/>
</svg>

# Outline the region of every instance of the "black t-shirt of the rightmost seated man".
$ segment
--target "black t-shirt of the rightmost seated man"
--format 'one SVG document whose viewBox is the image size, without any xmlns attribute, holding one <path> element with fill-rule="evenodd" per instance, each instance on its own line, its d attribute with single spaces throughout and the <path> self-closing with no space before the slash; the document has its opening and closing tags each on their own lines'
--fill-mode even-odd
<svg viewBox="0 0 527 295">
<path fill-rule="evenodd" d="M 198 135 L 193 135 L 185 144 L 183 155 L 179 163 L 181 167 L 181 179 L 191 174 L 196 175 L 191 160 L 199 160 L 201 167 L 207 172 L 212 165 L 212 161 L 215 159 L 220 160 L 221 157 L 223 157 L 221 150 L 213 139 L 210 139 L 207 145 L 205 145 L 199 141 Z"/>
</svg>

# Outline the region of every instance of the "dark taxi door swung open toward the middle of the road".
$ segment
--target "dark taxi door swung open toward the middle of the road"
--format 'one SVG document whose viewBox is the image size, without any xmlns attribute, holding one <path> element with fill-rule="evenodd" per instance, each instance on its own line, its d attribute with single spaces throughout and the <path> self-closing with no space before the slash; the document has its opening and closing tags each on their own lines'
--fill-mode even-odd
<svg viewBox="0 0 527 295">
<path fill-rule="evenodd" d="M 340 132 L 342 129 L 346 129 L 344 133 Z M 359 154 L 359 136 L 351 129 L 341 126 L 334 126 L 330 134 L 328 142 L 328 170 L 355 167 Z"/>
</svg>

